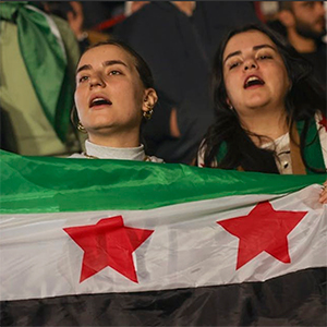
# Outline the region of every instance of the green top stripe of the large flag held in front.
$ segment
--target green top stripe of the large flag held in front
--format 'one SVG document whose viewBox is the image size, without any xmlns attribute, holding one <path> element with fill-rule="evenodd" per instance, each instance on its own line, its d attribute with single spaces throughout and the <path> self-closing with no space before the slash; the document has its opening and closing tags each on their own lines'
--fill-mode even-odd
<svg viewBox="0 0 327 327">
<path fill-rule="evenodd" d="M 278 196 L 327 179 L 327 174 L 276 175 L 177 164 L 23 157 L 7 152 L 0 152 L 0 167 L 1 214 L 152 209 L 231 195 Z"/>
</svg>

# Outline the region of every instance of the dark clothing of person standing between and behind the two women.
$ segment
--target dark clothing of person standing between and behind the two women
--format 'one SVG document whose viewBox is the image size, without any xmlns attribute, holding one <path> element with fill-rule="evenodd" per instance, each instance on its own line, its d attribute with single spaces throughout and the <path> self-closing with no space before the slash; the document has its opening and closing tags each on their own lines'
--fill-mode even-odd
<svg viewBox="0 0 327 327">
<path fill-rule="evenodd" d="M 113 35 L 131 45 L 154 74 L 159 101 L 153 120 L 144 128 L 150 155 L 166 162 L 190 164 L 195 158 L 199 142 L 214 122 L 209 100 L 214 52 L 229 27 L 254 20 L 250 2 L 201 1 L 189 17 L 172 3 L 156 1 L 114 28 Z M 172 108 L 177 109 L 179 138 L 170 135 Z"/>
</svg>

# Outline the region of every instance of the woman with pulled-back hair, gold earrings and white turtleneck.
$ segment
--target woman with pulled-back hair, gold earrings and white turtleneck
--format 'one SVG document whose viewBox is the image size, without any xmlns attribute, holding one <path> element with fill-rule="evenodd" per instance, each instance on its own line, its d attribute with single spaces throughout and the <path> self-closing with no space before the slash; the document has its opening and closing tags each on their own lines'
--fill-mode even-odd
<svg viewBox="0 0 327 327">
<path fill-rule="evenodd" d="M 77 64 L 74 112 L 88 138 L 71 158 L 162 162 L 145 154 L 141 136 L 156 101 L 152 72 L 137 52 L 117 40 L 92 46 Z"/>
</svg>

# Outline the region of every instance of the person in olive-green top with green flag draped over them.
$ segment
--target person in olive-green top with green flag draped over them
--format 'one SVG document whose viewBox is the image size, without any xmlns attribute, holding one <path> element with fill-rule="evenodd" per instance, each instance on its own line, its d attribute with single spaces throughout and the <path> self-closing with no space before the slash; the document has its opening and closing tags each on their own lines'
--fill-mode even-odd
<svg viewBox="0 0 327 327">
<path fill-rule="evenodd" d="M 65 156 L 73 133 L 74 68 L 80 49 L 69 24 L 28 2 L 0 4 L 1 148 Z"/>
</svg>

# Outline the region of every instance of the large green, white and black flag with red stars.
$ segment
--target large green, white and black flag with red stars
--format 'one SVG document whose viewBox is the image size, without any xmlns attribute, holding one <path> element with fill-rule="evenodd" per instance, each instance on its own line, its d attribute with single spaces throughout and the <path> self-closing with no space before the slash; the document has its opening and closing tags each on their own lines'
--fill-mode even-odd
<svg viewBox="0 0 327 327">
<path fill-rule="evenodd" d="M 326 174 L 0 167 L 1 326 L 326 326 Z"/>
</svg>

